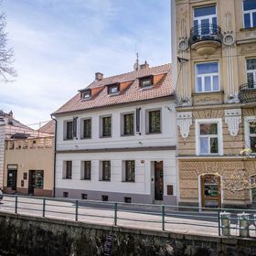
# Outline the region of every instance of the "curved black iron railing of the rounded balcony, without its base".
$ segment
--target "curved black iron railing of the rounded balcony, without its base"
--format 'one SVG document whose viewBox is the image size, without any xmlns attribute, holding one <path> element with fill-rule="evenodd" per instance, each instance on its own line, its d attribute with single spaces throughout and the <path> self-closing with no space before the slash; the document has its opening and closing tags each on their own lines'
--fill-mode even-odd
<svg viewBox="0 0 256 256">
<path fill-rule="evenodd" d="M 221 28 L 215 24 L 204 24 L 192 27 L 190 30 L 189 43 L 193 45 L 201 41 L 216 41 L 222 43 Z"/>
</svg>

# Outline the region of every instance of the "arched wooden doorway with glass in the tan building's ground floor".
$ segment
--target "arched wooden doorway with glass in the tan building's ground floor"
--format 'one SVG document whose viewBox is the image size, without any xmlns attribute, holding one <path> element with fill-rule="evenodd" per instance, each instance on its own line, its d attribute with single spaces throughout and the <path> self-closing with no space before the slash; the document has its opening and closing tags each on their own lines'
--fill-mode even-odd
<svg viewBox="0 0 256 256">
<path fill-rule="evenodd" d="M 215 174 L 200 176 L 202 208 L 221 207 L 221 178 Z"/>
</svg>

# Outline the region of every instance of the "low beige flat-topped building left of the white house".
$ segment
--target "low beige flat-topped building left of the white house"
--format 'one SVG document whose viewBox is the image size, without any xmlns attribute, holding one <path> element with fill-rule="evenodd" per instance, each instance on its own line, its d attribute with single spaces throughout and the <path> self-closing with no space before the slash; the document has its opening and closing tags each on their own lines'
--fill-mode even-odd
<svg viewBox="0 0 256 256">
<path fill-rule="evenodd" d="M 54 135 L 16 133 L 6 138 L 5 193 L 53 197 L 53 186 Z"/>
</svg>

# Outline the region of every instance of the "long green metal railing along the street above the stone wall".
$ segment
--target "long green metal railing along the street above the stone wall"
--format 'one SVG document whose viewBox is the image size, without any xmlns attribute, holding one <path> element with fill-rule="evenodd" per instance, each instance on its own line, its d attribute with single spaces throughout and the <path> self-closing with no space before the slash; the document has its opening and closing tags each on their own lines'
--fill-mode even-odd
<svg viewBox="0 0 256 256">
<path fill-rule="evenodd" d="M 246 213 L 243 213 L 243 212 Z M 136 229 L 256 239 L 256 210 L 4 195 L 0 212 Z"/>
</svg>

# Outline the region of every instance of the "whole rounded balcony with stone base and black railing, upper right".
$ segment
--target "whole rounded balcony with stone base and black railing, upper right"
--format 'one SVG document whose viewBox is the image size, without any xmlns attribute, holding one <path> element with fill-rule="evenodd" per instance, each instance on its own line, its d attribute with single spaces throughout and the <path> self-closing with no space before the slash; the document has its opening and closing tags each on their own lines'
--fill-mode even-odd
<svg viewBox="0 0 256 256">
<path fill-rule="evenodd" d="M 190 30 L 189 44 L 197 54 L 206 56 L 213 54 L 222 45 L 223 36 L 219 26 L 205 24 L 192 27 Z"/>
</svg>

